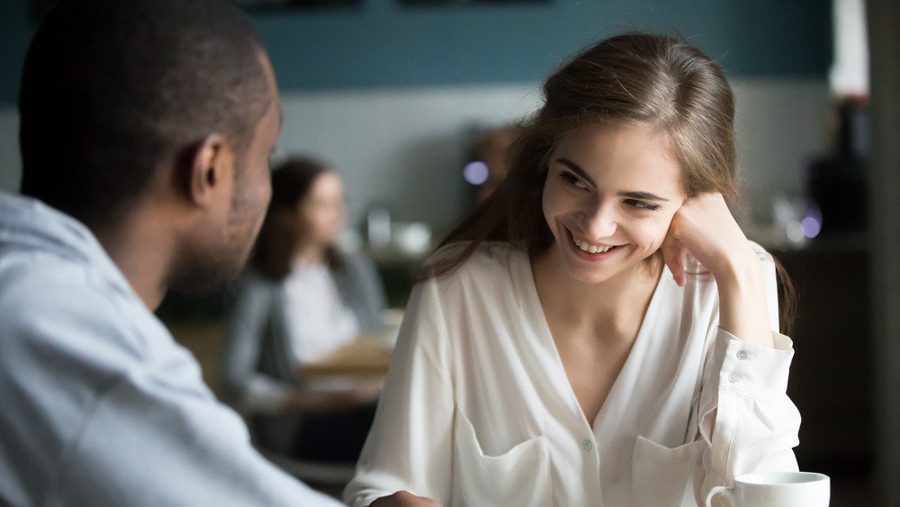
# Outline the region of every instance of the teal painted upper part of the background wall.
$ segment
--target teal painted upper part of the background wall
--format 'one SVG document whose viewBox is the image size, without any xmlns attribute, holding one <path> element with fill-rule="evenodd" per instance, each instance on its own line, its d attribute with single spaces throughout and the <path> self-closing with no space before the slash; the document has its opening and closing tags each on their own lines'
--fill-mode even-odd
<svg viewBox="0 0 900 507">
<path fill-rule="evenodd" d="M 827 0 L 547 0 L 520 5 L 254 14 L 284 91 L 538 82 L 590 41 L 679 30 L 741 77 L 825 77 Z M 0 6 L 0 104 L 13 103 L 33 31 L 25 0 Z"/>
</svg>

